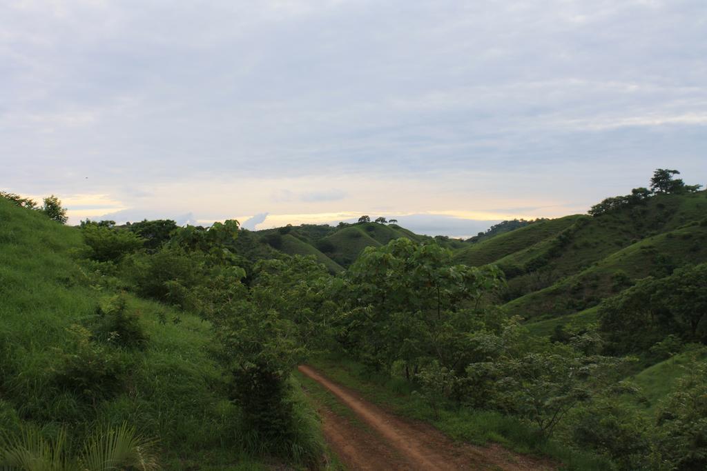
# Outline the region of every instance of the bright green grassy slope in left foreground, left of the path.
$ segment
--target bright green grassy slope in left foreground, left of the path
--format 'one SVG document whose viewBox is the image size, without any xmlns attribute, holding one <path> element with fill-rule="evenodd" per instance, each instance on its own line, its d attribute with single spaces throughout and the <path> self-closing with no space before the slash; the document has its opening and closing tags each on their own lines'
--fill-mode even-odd
<svg viewBox="0 0 707 471">
<path fill-rule="evenodd" d="M 0 198 L 0 429 L 133 424 L 158 439 L 167 469 L 259 469 L 244 458 L 238 409 L 195 316 L 125 295 L 143 350 L 90 335 L 110 285 L 80 268 L 81 232 Z"/>
</svg>

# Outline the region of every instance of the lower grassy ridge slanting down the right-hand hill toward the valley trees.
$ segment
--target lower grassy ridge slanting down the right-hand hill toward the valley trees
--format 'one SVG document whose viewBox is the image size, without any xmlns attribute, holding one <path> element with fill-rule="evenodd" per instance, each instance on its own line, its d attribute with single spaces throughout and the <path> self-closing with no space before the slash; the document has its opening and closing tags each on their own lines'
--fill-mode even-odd
<svg viewBox="0 0 707 471">
<path fill-rule="evenodd" d="M 553 285 L 508 302 L 511 314 L 551 318 L 594 306 L 649 275 L 665 276 L 686 263 L 707 261 L 707 220 L 648 237 Z"/>
</svg>

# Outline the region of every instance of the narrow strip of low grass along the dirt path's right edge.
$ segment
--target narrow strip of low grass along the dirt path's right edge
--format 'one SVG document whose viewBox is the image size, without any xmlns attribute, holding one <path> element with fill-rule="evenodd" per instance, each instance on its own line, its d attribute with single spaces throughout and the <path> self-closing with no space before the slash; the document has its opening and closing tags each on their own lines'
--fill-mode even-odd
<svg viewBox="0 0 707 471">
<path fill-rule="evenodd" d="M 310 363 L 332 381 L 356 390 L 366 400 L 397 415 L 428 422 L 452 439 L 481 446 L 489 442 L 500 443 L 518 453 L 557 460 L 563 463 L 562 469 L 567 470 L 600 471 L 611 467 L 604 458 L 542 439 L 529 425 L 498 412 L 448 407 L 436 417 L 432 407 L 412 393 L 414 386 L 411 383 L 402 378 L 371 373 L 349 359 L 317 357 Z"/>
</svg>

